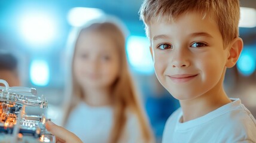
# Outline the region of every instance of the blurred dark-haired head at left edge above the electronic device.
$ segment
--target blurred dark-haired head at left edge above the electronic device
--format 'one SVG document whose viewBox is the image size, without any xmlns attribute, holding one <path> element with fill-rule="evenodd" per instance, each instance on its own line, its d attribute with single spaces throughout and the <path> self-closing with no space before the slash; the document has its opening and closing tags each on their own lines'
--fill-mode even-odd
<svg viewBox="0 0 256 143">
<path fill-rule="evenodd" d="M 9 86 L 20 86 L 17 66 L 18 61 L 13 54 L 8 51 L 0 51 L 0 79 L 6 80 Z"/>
</svg>

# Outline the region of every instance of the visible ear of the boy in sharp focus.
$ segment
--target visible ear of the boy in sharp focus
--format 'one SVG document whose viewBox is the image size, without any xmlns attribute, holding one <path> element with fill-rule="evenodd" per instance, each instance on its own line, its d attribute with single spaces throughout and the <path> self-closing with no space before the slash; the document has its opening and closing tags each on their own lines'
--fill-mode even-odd
<svg viewBox="0 0 256 143">
<path fill-rule="evenodd" d="M 233 67 L 236 64 L 243 49 L 243 40 L 241 38 L 235 38 L 230 46 L 231 48 L 228 51 L 227 63 L 225 64 L 228 68 Z"/>
</svg>

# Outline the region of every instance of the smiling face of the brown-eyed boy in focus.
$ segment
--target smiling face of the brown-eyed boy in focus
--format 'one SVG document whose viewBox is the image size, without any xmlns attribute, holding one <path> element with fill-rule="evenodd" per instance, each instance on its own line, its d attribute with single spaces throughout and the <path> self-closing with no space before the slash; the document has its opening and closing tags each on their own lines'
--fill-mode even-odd
<svg viewBox="0 0 256 143">
<path fill-rule="evenodd" d="M 196 12 L 172 23 L 150 25 L 154 67 L 160 83 L 178 100 L 222 89 L 228 48 L 217 23 Z"/>
</svg>

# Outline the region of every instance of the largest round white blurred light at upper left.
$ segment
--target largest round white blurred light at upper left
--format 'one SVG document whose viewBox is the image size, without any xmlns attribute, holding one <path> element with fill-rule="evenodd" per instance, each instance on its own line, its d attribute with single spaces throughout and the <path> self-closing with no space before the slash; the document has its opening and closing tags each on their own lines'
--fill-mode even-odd
<svg viewBox="0 0 256 143">
<path fill-rule="evenodd" d="M 54 40 L 56 24 L 50 14 L 32 11 L 20 18 L 20 33 L 31 44 L 45 45 Z"/>
</svg>

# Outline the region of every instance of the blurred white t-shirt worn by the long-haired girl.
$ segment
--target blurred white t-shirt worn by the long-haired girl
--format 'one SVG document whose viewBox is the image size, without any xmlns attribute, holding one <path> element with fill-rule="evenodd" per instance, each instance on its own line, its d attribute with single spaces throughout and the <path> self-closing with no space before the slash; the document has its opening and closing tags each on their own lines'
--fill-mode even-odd
<svg viewBox="0 0 256 143">
<path fill-rule="evenodd" d="M 80 102 L 69 115 L 66 129 L 75 133 L 83 142 L 108 142 L 113 126 L 114 110 L 111 107 L 90 107 Z M 126 126 L 118 142 L 144 142 L 138 118 L 131 112 L 127 113 Z"/>
</svg>

